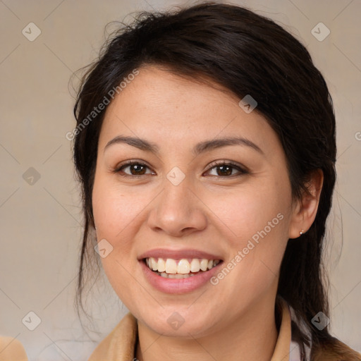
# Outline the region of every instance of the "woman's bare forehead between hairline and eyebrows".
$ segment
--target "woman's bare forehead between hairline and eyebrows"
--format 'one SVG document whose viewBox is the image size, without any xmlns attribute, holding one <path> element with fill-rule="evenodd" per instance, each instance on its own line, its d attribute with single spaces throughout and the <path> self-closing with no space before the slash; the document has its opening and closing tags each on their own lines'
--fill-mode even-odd
<svg viewBox="0 0 361 361">
<path fill-rule="evenodd" d="M 239 101 L 216 83 L 156 66 L 140 68 L 106 109 L 99 143 L 118 134 L 172 145 L 234 135 L 252 137 L 259 145 L 277 142 L 266 119 L 257 111 L 246 114 Z"/>
</svg>

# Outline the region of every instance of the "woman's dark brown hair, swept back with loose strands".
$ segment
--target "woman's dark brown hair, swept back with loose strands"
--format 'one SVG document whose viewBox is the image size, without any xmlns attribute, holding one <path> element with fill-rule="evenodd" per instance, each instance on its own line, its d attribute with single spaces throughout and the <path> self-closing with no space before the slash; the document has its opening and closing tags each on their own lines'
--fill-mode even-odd
<svg viewBox="0 0 361 361">
<path fill-rule="evenodd" d="M 307 49 L 274 21 L 240 6 L 204 3 L 173 12 L 143 12 L 111 36 L 85 74 L 74 108 L 77 124 L 123 78 L 148 64 L 197 80 L 206 77 L 240 99 L 251 94 L 257 111 L 279 136 L 294 199 L 307 192 L 312 171 L 322 169 L 324 184 L 316 219 L 301 238 L 288 240 L 278 294 L 305 322 L 313 346 L 329 342 L 328 327 L 319 330 L 311 320 L 318 312 L 329 315 L 322 247 L 336 180 L 335 117 L 326 82 Z M 104 111 L 78 132 L 74 143 L 85 214 L 80 304 L 87 257 L 94 255 L 92 185 Z M 293 335 L 301 348 L 310 345 L 301 330 Z"/>
</svg>

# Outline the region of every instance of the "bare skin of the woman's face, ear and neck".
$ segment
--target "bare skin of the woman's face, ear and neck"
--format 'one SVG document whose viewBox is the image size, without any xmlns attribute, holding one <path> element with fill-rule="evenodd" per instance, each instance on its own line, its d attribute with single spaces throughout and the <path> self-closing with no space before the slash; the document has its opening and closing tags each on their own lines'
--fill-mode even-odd
<svg viewBox="0 0 361 361">
<path fill-rule="evenodd" d="M 138 320 L 136 356 L 270 360 L 278 336 L 274 305 L 281 260 L 288 238 L 299 237 L 314 221 L 322 173 L 312 176 L 310 195 L 293 200 L 286 156 L 261 114 L 246 114 L 240 99 L 219 85 L 157 66 L 139 70 L 106 110 L 92 194 L 97 239 L 114 247 L 102 259 L 106 276 Z M 159 154 L 126 144 L 104 150 L 118 135 L 153 142 Z M 198 142 L 232 136 L 251 140 L 262 153 L 231 145 L 192 154 Z M 129 166 L 114 172 L 129 160 L 145 164 L 145 174 L 136 176 Z M 213 164 L 222 160 L 249 173 L 231 169 L 231 176 L 224 175 Z M 175 166 L 185 174 L 179 185 L 166 178 Z M 137 260 L 153 248 L 195 248 L 227 264 L 277 214 L 283 215 L 279 224 L 216 286 L 207 282 L 190 293 L 161 293 Z M 185 319 L 178 330 L 167 322 L 173 312 Z"/>
</svg>

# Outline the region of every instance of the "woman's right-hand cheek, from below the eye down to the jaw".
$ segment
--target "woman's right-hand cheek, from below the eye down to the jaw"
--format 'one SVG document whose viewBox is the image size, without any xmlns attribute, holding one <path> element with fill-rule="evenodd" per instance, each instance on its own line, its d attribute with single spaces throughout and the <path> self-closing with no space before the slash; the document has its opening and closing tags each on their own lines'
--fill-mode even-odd
<svg viewBox="0 0 361 361">
<path fill-rule="evenodd" d="M 228 259 L 214 284 L 222 284 L 224 295 L 244 298 L 247 290 L 247 297 L 257 297 L 274 286 L 279 274 L 288 240 L 290 188 L 287 182 L 280 187 L 279 181 L 269 180 L 218 198 L 209 199 L 209 208 L 223 224 Z"/>
</svg>

